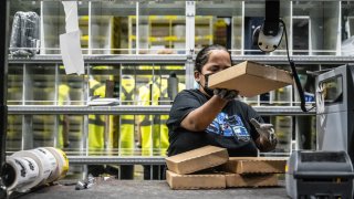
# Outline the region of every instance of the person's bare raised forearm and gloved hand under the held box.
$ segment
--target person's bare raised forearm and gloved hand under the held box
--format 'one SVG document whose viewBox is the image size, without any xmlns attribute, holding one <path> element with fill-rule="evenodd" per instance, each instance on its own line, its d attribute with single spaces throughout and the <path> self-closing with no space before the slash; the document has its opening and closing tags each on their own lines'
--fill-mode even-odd
<svg viewBox="0 0 354 199">
<path fill-rule="evenodd" d="M 205 130 L 226 104 L 238 95 L 238 92 L 216 88 L 214 94 L 207 103 L 190 112 L 183 119 L 181 127 L 191 132 Z"/>
</svg>

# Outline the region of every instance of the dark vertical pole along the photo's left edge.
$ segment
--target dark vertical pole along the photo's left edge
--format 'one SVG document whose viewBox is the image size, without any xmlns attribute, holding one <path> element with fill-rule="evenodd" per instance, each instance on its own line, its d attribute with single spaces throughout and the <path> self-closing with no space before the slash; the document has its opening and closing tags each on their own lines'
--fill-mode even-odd
<svg viewBox="0 0 354 199">
<path fill-rule="evenodd" d="M 0 174 L 6 163 L 6 140 L 8 124 L 8 40 L 9 40 L 9 0 L 0 1 Z"/>
</svg>

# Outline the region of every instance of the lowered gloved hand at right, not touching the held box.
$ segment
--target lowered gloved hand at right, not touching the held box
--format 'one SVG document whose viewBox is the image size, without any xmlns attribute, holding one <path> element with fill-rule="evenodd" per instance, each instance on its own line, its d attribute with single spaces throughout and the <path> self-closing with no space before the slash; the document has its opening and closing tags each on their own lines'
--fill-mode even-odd
<svg viewBox="0 0 354 199">
<path fill-rule="evenodd" d="M 270 151 L 275 149 L 278 144 L 277 136 L 274 134 L 272 124 L 260 124 L 257 119 L 251 118 L 251 124 L 256 127 L 256 130 L 259 134 L 258 139 L 256 140 L 257 147 L 261 151 Z"/>
</svg>

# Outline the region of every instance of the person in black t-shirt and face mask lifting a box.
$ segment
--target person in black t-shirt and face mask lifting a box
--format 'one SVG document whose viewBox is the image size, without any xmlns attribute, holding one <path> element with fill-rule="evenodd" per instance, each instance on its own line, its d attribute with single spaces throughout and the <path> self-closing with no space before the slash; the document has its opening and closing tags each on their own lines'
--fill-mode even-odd
<svg viewBox="0 0 354 199">
<path fill-rule="evenodd" d="M 229 51 L 208 45 L 196 57 L 195 80 L 199 88 L 178 93 L 167 121 L 168 156 L 207 145 L 228 149 L 229 156 L 258 156 L 277 146 L 271 124 L 236 97 L 238 91 L 208 87 L 209 75 L 232 65 Z"/>
</svg>

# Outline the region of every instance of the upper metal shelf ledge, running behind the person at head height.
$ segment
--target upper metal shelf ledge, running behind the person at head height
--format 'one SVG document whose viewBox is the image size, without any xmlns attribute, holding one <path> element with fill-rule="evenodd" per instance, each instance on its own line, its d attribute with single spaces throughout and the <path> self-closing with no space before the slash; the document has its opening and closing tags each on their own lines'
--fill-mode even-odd
<svg viewBox="0 0 354 199">
<path fill-rule="evenodd" d="M 116 63 L 186 63 L 189 56 L 186 54 L 112 54 L 112 55 L 84 55 L 85 63 L 116 64 Z M 291 59 L 295 64 L 345 64 L 353 63 L 354 56 L 334 55 L 294 55 Z M 194 56 L 195 60 L 195 56 Z M 232 55 L 235 63 L 246 60 L 264 64 L 289 64 L 285 55 Z M 9 63 L 62 63 L 61 55 L 35 55 L 33 57 L 9 56 Z M 10 66 L 11 67 L 11 66 Z"/>
</svg>

